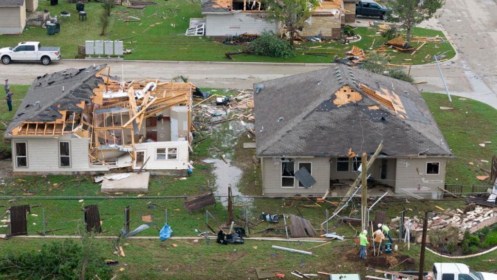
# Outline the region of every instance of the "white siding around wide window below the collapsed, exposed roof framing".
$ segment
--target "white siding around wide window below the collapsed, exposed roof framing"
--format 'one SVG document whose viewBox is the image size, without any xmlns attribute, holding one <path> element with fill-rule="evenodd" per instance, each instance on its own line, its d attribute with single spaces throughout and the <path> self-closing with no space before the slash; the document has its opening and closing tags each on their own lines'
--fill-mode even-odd
<svg viewBox="0 0 497 280">
<path fill-rule="evenodd" d="M 177 148 L 176 159 L 156 159 L 158 148 Z M 147 170 L 185 170 L 188 168 L 188 141 L 146 142 L 135 145 L 136 151 L 145 150 L 145 160 L 150 156 L 145 169 Z M 140 166 L 138 166 L 140 168 Z"/>
</svg>

